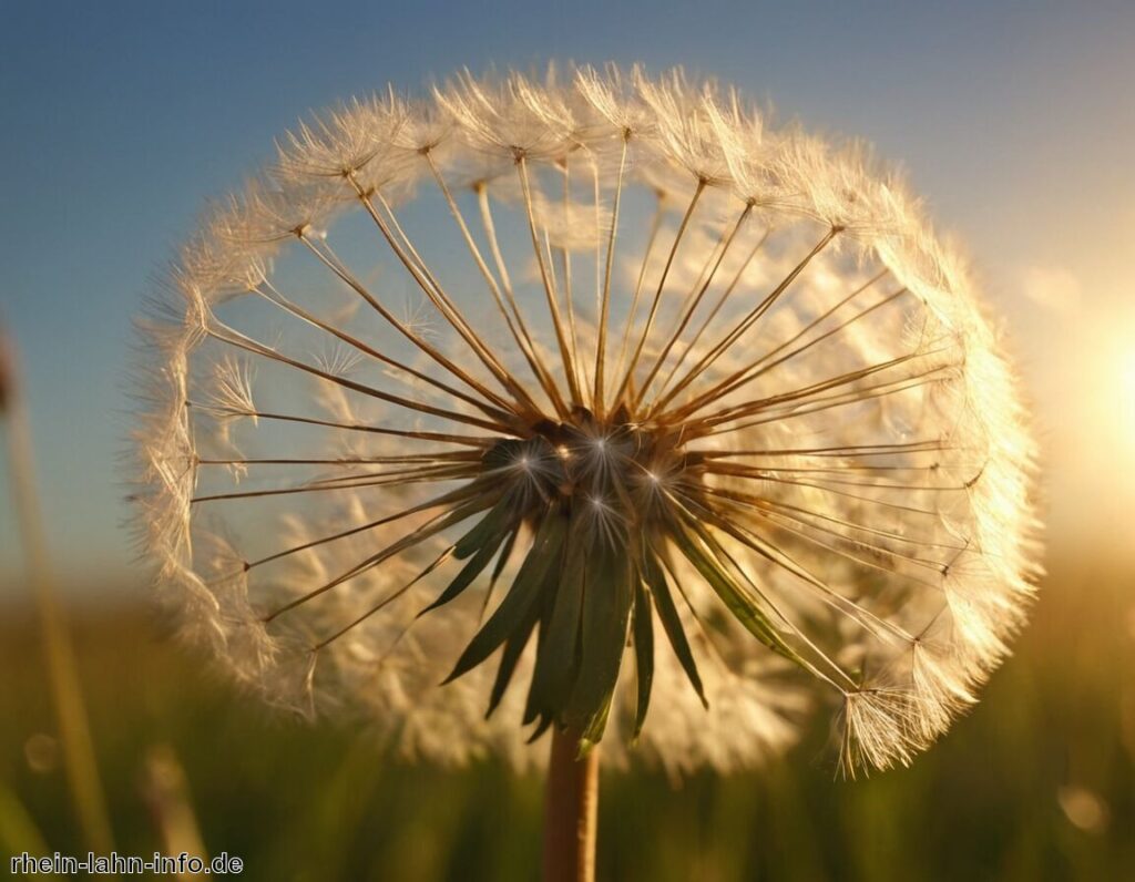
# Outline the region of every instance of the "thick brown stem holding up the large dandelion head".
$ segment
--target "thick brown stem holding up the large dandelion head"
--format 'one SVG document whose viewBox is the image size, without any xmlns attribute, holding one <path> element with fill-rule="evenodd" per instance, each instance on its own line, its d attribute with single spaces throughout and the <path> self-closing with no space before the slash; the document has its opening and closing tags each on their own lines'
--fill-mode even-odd
<svg viewBox="0 0 1135 882">
<path fill-rule="evenodd" d="M 544 814 L 544 882 L 595 882 L 599 749 L 578 758 L 580 733 L 555 729 Z"/>
</svg>

